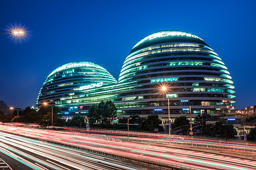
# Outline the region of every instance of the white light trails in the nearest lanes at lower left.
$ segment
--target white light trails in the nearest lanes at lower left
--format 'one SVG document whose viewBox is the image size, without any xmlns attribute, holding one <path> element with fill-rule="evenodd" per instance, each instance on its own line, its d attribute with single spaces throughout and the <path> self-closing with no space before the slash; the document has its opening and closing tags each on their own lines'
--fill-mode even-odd
<svg viewBox="0 0 256 170">
<path fill-rule="evenodd" d="M 102 156 L 101 160 L 99 158 L 95 159 L 92 156 L 87 156 L 88 153 L 85 151 L 78 151 L 72 148 L 57 146 L 40 141 L 33 141 L 32 139 L 28 139 L 28 141 L 26 141 L 26 138 L 22 137 L 15 139 L 15 135 L 5 134 L 5 136 L 3 136 L 1 133 L 0 137 L 1 148 L 14 152 L 17 158 L 20 158 L 17 155 L 21 155 L 25 158 L 33 160 L 33 162 L 35 161 L 41 166 L 43 165 L 43 167 L 48 167 L 50 169 L 64 169 L 62 168 L 62 165 L 56 165 L 56 163 L 53 164 L 53 161 L 59 162 L 60 164 L 65 164 L 69 167 L 65 169 L 141 169 L 131 165 L 125 165 L 123 163 L 115 163 L 117 160 L 114 160 L 115 162 L 113 160 L 110 162 L 105 160 L 106 158 L 102 158 Z M 25 150 L 26 152 L 30 152 L 30 154 L 24 152 Z M 83 155 L 81 153 L 77 154 L 77 152 L 81 152 Z M 42 156 L 42 158 L 47 158 L 47 160 L 42 160 L 38 157 L 32 156 L 31 153 Z M 32 166 L 33 167 L 31 168 L 33 169 L 42 169 L 36 164 L 33 164 Z"/>
</svg>

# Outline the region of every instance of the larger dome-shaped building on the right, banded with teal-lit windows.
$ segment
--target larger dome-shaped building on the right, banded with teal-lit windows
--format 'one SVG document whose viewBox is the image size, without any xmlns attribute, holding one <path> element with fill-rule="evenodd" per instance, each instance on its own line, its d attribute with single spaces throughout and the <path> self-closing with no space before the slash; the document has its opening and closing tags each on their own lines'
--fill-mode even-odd
<svg viewBox="0 0 256 170">
<path fill-rule="evenodd" d="M 198 36 L 160 31 L 139 41 L 126 57 L 118 83 L 137 83 L 121 94 L 125 114 L 228 112 L 235 102 L 230 73 L 221 58 Z M 166 91 L 161 91 L 162 87 Z M 126 107 L 128 104 L 129 107 Z"/>
</svg>

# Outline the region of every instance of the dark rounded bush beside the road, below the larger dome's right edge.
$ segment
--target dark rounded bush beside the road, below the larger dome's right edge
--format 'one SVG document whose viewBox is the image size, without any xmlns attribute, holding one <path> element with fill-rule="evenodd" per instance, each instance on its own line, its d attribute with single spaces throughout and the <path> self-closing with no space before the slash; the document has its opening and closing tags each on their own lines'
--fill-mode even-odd
<svg viewBox="0 0 256 170">
<path fill-rule="evenodd" d="M 216 122 L 215 124 L 209 124 L 204 129 L 204 135 L 209 135 L 212 137 L 222 137 L 226 139 L 233 138 L 235 135 L 237 135 L 237 129 L 234 128 L 233 125 L 224 124 Z"/>
</svg>

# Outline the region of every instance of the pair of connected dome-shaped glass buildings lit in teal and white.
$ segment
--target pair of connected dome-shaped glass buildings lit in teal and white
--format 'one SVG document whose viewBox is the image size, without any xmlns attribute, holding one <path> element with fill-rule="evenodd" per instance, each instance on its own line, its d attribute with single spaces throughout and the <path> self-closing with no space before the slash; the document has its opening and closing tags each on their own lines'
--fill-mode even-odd
<svg viewBox="0 0 256 170">
<path fill-rule="evenodd" d="M 102 67 L 90 65 L 57 68 L 43 84 L 37 104 L 48 101 L 72 115 L 111 99 L 118 117 L 159 114 L 167 118 L 167 97 L 171 117 L 186 113 L 189 106 L 195 116 L 234 109 L 235 91 L 228 69 L 203 39 L 191 33 L 160 31 L 139 41 L 126 57 L 118 83 Z"/>
</svg>

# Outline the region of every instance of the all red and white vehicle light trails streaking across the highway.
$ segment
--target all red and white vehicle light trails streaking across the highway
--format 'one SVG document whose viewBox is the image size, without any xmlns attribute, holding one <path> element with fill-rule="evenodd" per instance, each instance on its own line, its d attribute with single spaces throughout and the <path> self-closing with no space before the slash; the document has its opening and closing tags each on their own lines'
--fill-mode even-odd
<svg viewBox="0 0 256 170">
<path fill-rule="evenodd" d="M 256 162 L 254 160 L 239 159 L 236 158 L 236 156 L 223 156 L 205 152 L 181 150 L 166 146 L 152 146 L 146 145 L 145 143 L 121 142 L 118 138 L 124 139 L 125 137 L 117 137 L 115 135 L 88 135 L 76 131 L 54 131 L 23 127 L 11 129 L 10 126 L 0 126 L 2 131 L 26 134 L 31 137 L 38 137 L 39 139 L 44 138 L 56 142 L 70 143 L 72 145 L 89 147 L 92 150 L 106 151 L 117 155 L 127 155 L 129 158 L 155 160 L 164 164 L 183 165 L 195 169 L 256 169 Z M 0 141 L 6 145 L 19 147 L 21 150 L 27 150 L 33 154 L 49 158 L 48 162 L 44 161 L 43 163 L 47 163 L 53 167 L 55 164 L 51 162 L 62 163 L 62 165 L 64 164 L 63 162 L 65 162 L 67 167 L 76 168 L 81 168 L 80 166 L 84 162 L 90 162 L 96 164 L 96 167 L 98 164 L 104 164 L 107 168 L 113 167 L 114 165 L 116 168 L 135 168 L 132 166 L 127 167 L 123 163 L 123 160 L 108 157 L 109 161 L 106 162 L 101 155 L 93 154 L 93 156 L 88 156 L 88 152 L 85 151 L 53 145 L 34 139 L 27 139 L 5 133 L 0 133 L 0 137 Z M 114 140 L 109 141 L 106 140 L 107 138 Z M 42 162 L 42 160 L 40 161 Z M 42 165 L 42 163 L 39 164 Z M 90 165 L 90 168 L 95 167 Z"/>
</svg>

